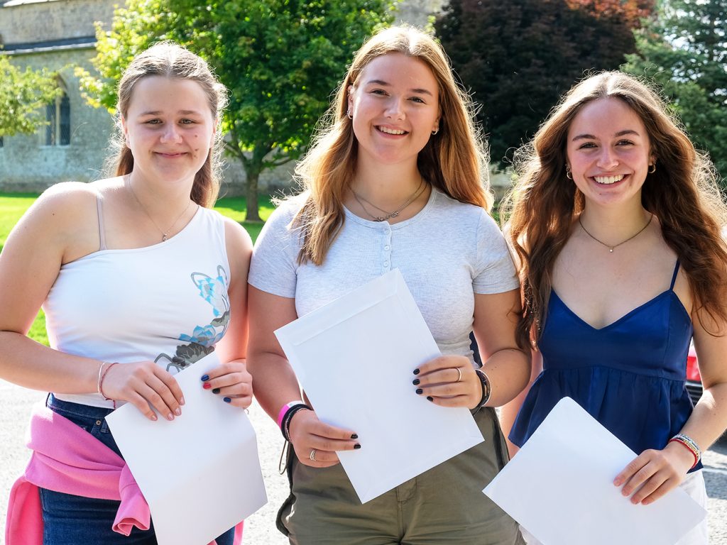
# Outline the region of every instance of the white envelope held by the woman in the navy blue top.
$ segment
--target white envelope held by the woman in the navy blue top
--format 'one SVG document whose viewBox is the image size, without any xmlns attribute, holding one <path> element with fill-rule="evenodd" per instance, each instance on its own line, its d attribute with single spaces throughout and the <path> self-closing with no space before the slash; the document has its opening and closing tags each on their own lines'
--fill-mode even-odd
<svg viewBox="0 0 727 545">
<path fill-rule="evenodd" d="M 674 545 L 706 512 L 680 488 L 631 504 L 613 480 L 635 456 L 564 397 L 483 492 L 544 545 Z"/>
</svg>

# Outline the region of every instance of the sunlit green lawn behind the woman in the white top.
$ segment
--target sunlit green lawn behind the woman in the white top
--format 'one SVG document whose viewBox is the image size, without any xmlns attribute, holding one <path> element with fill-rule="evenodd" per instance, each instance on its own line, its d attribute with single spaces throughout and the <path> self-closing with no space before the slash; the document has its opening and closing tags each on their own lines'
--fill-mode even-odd
<svg viewBox="0 0 727 545">
<path fill-rule="evenodd" d="M 33 201 L 38 197 L 37 194 L 30 193 L 4 193 L 0 194 L 0 251 L 2 251 L 7 235 L 12 227 L 17 223 L 25 211 L 30 208 Z M 214 209 L 227 217 L 234 219 L 245 227 L 252 240 L 260 235 L 262 223 L 245 222 L 245 198 L 244 197 L 225 197 L 217 201 Z M 270 213 L 275 207 L 269 201 L 263 201 L 260 204 L 260 217 L 268 219 Z M 28 336 L 43 344 L 48 344 L 48 337 L 45 331 L 45 315 L 41 310 L 38 312 L 38 318 L 33 322 L 31 331 Z"/>
</svg>

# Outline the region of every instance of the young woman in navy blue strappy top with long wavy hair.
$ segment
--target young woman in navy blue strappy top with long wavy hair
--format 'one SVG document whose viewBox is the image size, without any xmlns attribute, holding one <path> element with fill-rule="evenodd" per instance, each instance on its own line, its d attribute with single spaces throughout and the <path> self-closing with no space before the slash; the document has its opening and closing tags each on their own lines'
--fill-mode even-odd
<svg viewBox="0 0 727 545">
<path fill-rule="evenodd" d="M 706 157 L 658 95 L 619 72 L 574 86 L 520 151 L 510 237 L 539 357 L 505 410 L 523 445 L 571 397 L 638 453 L 614 479 L 634 504 L 681 485 L 727 425 L 725 205 Z M 694 344 L 704 382 L 685 388 Z M 574 437 L 577 440 L 577 437 Z M 707 542 L 706 522 L 679 544 Z"/>
</svg>

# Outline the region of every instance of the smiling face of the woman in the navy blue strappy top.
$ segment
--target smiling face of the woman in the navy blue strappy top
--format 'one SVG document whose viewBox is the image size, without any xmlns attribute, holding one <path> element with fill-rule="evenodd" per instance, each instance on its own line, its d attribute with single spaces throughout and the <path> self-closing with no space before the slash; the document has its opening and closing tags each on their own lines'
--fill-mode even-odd
<svg viewBox="0 0 727 545">
<path fill-rule="evenodd" d="M 566 151 L 573 181 L 587 201 L 640 203 L 654 157 L 643 121 L 625 102 L 601 98 L 587 103 L 571 122 Z"/>
</svg>

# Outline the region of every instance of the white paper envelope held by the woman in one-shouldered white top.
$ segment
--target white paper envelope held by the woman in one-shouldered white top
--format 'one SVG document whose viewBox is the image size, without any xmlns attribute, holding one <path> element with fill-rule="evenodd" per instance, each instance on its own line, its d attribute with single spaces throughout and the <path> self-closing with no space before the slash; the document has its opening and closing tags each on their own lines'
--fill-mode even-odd
<svg viewBox="0 0 727 545">
<path fill-rule="evenodd" d="M 150 421 L 131 404 L 106 417 L 151 511 L 160 545 L 206 545 L 268 501 L 245 411 L 202 389 L 207 355 L 174 378 L 185 405 Z"/>
</svg>

